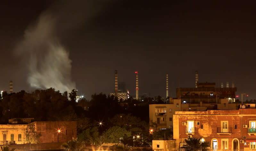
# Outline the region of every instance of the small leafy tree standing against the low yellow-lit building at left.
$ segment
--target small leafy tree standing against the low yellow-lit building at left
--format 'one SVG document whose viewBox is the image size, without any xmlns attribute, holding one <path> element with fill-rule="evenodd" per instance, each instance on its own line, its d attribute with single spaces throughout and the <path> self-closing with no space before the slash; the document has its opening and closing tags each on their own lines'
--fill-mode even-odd
<svg viewBox="0 0 256 151">
<path fill-rule="evenodd" d="M 42 136 L 41 133 L 36 132 L 36 127 L 34 123 L 28 124 L 25 130 L 26 142 L 29 144 L 39 143 L 39 139 Z"/>
</svg>

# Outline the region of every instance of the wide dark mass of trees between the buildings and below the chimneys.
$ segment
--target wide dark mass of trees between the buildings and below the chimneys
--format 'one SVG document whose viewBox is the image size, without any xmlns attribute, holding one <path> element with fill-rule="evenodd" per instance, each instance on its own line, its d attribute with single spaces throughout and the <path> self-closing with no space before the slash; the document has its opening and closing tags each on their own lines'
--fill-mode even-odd
<svg viewBox="0 0 256 151">
<path fill-rule="evenodd" d="M 171 138 L 170 130 L 149 133 L 149 104 L 166 103 L 160 96 L 118 100 L 114 96 L 94 94 L 90 100 L 77 93 L 54 90 L 24 90 L 8 94 L 3 92 L 0 101 L 0 123 L 7 124 L 11 118 L 34 118 L 34 121 L 77 121 L 78 139 L 99 145 L 103 142 L 122 142 L 130 146 L 149 146 L 152 139 Z M 102 125 L 99 123 L 102 122 Z M 134 139 L 133 136 L 136 136 Z"/>
</svg>

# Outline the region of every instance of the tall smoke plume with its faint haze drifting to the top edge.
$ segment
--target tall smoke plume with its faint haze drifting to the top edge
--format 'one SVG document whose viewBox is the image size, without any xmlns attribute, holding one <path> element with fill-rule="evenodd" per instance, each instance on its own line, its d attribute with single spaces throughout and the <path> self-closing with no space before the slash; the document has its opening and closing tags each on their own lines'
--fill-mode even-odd
<svg viewBox="0 0 256 151">
<path fill-rule="evenodd" d="M 65 35 L 66 31 L 70 31 L 67 29 L 77 28 L 78 23 L 86 24 L 99 10 L 96 8 L 99 7 L 89 1 L 57 1 L 27 28 L 16 53 L 26 61 L 31 87 L 53 87 L 61 92 L 76 88 L 71 80 L 69 52 L 57 35 Z"/>
</svg>

